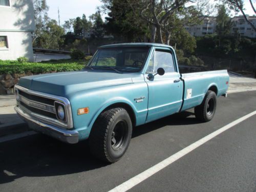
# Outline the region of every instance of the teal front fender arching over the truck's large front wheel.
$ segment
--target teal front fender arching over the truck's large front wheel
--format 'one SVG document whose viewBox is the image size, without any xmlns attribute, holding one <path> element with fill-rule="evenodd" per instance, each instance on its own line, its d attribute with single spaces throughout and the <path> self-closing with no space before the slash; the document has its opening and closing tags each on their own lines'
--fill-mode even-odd
<svg viewBox="0 0 256 192">
<path fill-rule="evenodd" d="M 143 102 L 135 98 L 145 96 Z M 115 103 L 124 103 L 131 107 L 136 117 L 136 125 L 145 123 L 147 115 L 147 86 L 145 83 L 132 83 L 87 90 L 69 96 L 72 108 L 74 129 L 79 140 L 87 139 L 99 114 Z M 79 108 L 89 107 L 89 113 L 78 115 Z"/>
</svg>

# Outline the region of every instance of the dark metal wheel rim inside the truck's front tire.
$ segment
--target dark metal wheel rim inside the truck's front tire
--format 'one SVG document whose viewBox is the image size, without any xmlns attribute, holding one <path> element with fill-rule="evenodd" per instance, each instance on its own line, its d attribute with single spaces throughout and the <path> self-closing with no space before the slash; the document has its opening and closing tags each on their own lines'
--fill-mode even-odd
<svg viewBox="0 0 256 192">
<path fill-rule="evenodd" d="M 112 148 L 117 151 L 119 150 L 127 138 L 127 124 L 125 121 L 119 121 L 111 134 L 111 145 Z"/>
</svg>

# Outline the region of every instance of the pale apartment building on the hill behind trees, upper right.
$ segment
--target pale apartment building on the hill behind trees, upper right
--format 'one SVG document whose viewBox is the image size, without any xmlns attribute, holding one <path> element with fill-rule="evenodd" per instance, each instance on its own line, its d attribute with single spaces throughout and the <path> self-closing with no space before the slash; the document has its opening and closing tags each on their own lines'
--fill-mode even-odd
<svg viewBox="0 0 256 192">
<path fill-rule="evenodd" d="M 247 19 L 256 27 L 256 16 L 247 16 Z M 230 33 L 234 34 L 239 32 L 242 36 L 256 38 L 256 32 L 251 28 L 251 26 L 246 22 L 245 18 L 240 16 L 235 16 L 232 18 L 233 26 Z M 213 34 L 216 32 L 216 17 L 205 17 L 202 19 L 201 25 L 195 26 L 185 26 L 185 29 L 193 36 L 204 36 Z"/>
</svg>

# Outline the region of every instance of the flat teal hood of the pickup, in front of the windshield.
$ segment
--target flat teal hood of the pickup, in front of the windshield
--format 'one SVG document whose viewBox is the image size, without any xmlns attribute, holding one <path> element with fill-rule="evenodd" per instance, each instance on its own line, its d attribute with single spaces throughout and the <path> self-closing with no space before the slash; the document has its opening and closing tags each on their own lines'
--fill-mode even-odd
<svg viewBox="0 0 256 192">
<path fill-rule="evenodd" d="M 88 89 L 133 83 L 132 74 L 105 71 L 61 72 L 22 77 L 18 85 L 34 91 L 67 96 Z"/>
</svg>

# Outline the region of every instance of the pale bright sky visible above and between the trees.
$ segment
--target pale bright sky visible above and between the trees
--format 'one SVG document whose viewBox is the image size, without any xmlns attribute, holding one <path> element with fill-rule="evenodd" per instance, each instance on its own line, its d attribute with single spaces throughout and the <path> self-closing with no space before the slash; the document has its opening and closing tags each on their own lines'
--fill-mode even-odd
<svg viewBox="0 0 256 192">
<path fill-rule="evenodd" d="M 214 0 L 210 0 L 214 2 Z M 254 12 L 251 9 L 249 0 L 244 0 L 246 14 L 253 15 Z M 256 7 L 256 0 L 252 0 L 254 7 Z M 49 6 L 49 16 L 52 19 L 58 21 L 58 8 L 60 14 L 60 24 L 62 25 L 65 20 L 69 20 L 70 18 L 76 18 L 78 16 L 82 16 L 82 14 L 86 14 L 87 18 L 96 12 L 98 6 L 102 6 L 100 0 L 47 0 L 47 4 Z M 240 15 L 240 13 L 238 14 Z M 102 15 L 104 17 L 106 14 Z M 232 15 L 234 16 L 234 14 Z"/>
</svg>

